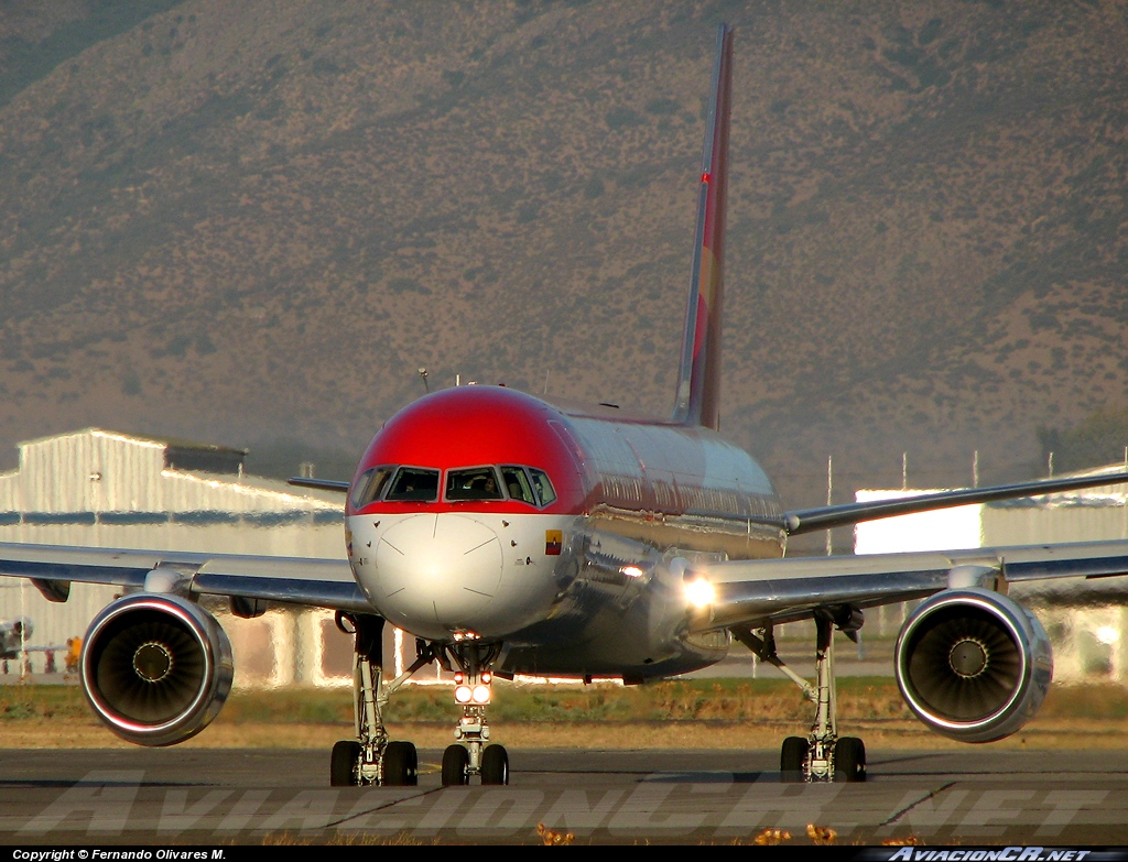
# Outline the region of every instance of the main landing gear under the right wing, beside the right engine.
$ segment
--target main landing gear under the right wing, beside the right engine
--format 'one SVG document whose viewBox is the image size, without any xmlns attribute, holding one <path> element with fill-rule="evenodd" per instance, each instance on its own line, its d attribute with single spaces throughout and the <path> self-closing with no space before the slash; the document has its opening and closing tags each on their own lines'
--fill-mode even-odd
<svg viewBox="0 0 1128 862">
<path fill-rule="evenodd" d="M 737 640 L 761 661 L 779 668 L 814 703 L 811 732 L 805 739 L 792 736 L 783 743 L 779 753 L 782 781 L 865 781 L 865 745 L 856 737 L 838 736 L 831 638 L 837 625 L 846 637 L 856 640 L 862 622 L 862 612 L 849 606 L 819 608 L 814 612 L 814 685 L 787 667 L 776 655 L 775 634 L 770 625 L 760 630 L 763 637 L 746 630 L 732 630 Z"/>
</svg>

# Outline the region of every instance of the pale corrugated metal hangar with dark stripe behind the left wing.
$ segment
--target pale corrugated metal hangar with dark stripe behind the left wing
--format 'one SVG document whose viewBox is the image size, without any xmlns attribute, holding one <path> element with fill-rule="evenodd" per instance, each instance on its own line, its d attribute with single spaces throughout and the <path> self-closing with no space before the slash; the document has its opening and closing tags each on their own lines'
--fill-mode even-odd
<svg viewBox="0 0 1128 862">
<path fill-rule="evenodd" d="M 87 429 L 20 445 L 20 469 L 0 476 L 0 541 L 343 559 L 342 504 L 257 477 L 166 470 L 162 443 Z M 30 617 L 29 646 L 63 646 L 116 593 L 76 584 L 53 604 L 25 580 L 0 578 L 0 617 Z M 335 673 L 325 668 L 351 650 L 344 636 L 323 637 L 325 612 L 272 612 L 268 623 L 221 616 L 240 684 L 326 683 Z M 32 663 L 42 669 L 43 656 Z"/>
</svg>

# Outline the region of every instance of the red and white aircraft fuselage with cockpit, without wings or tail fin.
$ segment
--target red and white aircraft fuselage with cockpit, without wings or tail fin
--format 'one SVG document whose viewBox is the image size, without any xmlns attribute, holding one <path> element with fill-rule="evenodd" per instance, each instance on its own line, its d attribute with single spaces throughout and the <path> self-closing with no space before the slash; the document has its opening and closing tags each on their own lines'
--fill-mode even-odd
<svg viewBox="0 0 1128 862">
<path fill-rule="evenodd" d="M 501 673 L 644 678 L 722 658 L 675 558 L 779 557 L 778 497 L 700 427 L 460 386 L 376 435 L 346 508 L 358 584 L 428 640 L 502 642 Z"/>
</svg>

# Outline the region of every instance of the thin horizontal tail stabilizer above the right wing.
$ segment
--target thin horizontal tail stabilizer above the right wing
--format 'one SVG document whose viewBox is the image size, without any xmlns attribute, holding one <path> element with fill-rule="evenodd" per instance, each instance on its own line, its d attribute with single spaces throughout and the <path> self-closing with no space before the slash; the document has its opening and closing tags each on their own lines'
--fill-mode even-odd
<svg viewBox="0 0 1128 862">
<path fill-rule="evenodd" d="M 783 515 L 788 535 L 811 533 L 816 530 L 848 526 L 863 521 L 876 521 L 916 512 L 967 506 L 973 503 L 994 503 L 1020 497 L 1037 497 L 1043 494 L 1061 494 L 1082 488 L 1099 488 L 1105 485 L 1128 482 L 1128 473 L 1096 473 L 1073 476 L 1066 479 L 1048 479 L 1021 485 L 1001 485 L 992 488 L 963 488 L 937 494 L 920 494 L 915 497 L 899 497 L 891 500 L 869 500 L 845 503 L 838 506 L 819 506 L 809 509 L 792 509 Z"/>
</svg>

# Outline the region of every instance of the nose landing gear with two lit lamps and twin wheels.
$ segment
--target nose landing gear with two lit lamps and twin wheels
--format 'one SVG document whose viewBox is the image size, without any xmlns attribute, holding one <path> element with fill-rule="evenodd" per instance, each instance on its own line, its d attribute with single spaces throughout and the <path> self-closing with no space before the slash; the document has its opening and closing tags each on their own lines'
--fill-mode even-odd
<svg viewBox="0 0 1128 862">
<path fill-rule="evenodd" d="M 458 740 L 443 752 L 442 784 L 469 784 L 479 775 L 483 784 L 509 784 L 509 753 L 503 746 L 486 745 L 490 723 L 486 707 L 492 696 L 493 674 L 490 666 L 500 652 L 499 645 L 479 646 L 464 642 L 450 648 L 458 665 L 455 674 L 455 702 L 462 714 L 455 728 Z"/>
</svg>

